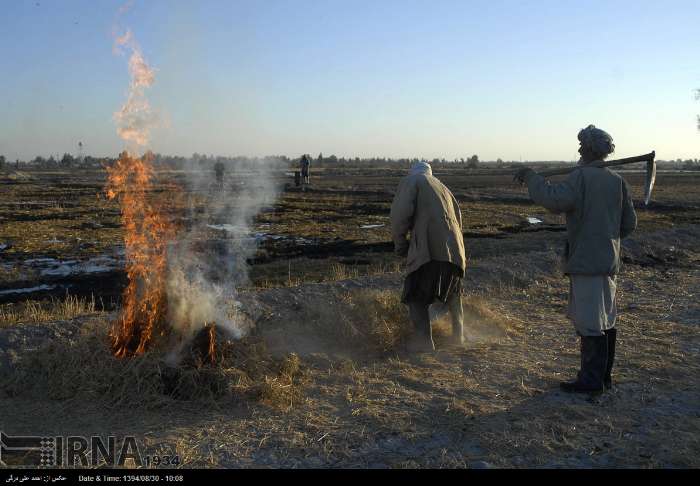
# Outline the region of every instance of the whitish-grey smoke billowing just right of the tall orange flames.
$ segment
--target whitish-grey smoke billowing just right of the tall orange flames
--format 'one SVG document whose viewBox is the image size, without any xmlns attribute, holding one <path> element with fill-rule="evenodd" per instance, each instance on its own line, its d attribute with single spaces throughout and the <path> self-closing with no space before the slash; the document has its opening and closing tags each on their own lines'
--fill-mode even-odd
<svg viewBox="0 0 700 486">
<path fill-rule="evenodd" d="M 248 283 L 247 260 L 257 250 L 254 218 L 277 199 L 278 166 L 273 159 L 229 165 L 221 184 L 212 167 L 185 167 L 189 227 L 168 252 L 168 321 L 182 339 L 207 324 L 234 339 L 249 331 L 237 289 Z"/>
</svg>

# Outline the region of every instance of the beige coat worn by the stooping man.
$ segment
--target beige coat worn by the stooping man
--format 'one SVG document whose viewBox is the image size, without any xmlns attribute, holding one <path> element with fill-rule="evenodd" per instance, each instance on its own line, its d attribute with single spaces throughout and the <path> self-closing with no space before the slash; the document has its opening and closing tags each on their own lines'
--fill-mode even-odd
<svg viewBox="0 0 700 486">
<path fill-rule="evenodd" d="M 409 232 L 410 243 L 406 241 Z M 391 205 L 391 233 L 397 253 L 405 254 L 408 247 L 408 273 L 431 260 L 466 269 L 459 205 L 429 173 L 408 175 L 399 183 Z"/>
</svg>

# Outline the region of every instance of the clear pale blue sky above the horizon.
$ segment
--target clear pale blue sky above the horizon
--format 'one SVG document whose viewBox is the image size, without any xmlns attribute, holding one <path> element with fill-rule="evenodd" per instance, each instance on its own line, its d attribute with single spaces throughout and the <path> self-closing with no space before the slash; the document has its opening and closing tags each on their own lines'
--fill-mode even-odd
<svg viewBox="0 0 700 486">
<path fill-rule="evenodd" d="M 0 154 L 123 148 L 124 3 L 3 0 Z M 615 157 L 700 157 L 697 0 L 136 0 L 119 24 L 156 152 L 574 160 L 593 123 Z"/>
</svg>

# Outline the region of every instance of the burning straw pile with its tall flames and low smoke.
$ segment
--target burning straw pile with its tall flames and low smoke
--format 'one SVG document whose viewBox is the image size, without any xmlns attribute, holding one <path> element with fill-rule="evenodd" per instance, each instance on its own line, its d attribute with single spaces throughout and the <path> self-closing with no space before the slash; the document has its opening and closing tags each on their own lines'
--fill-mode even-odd
<svg viewBox="0 0 700 486">
<path fill-rule="evenodd" d="M 273 359 L 260 340 L 241 339 L 248 330 L 242 317 L 225 308 L 233 298 L 232 284 L 212 284 L 201 261 L 182 257 L 190 256 L 179 241 L 182 235 L 167 217 L 165 202 L 155 197 L 153 157 L 135 155 L 147 144 L 156 119 L 145 96 L 154 71 L 130 31 L 115 47 L 131 51 L 127 101 L 115 113 L 129 150 L 107 169 L 106 186 L 107 197 L 119 202 L 125 233 L 128 286 L 122 309 L 109 330 L 104 323 L 86 327 L 72 341 L 25 356 L 0 389 L 13 396 L 87 398 L 109 406 L 225 397 L 289 406 L 296 398 L 299 358 Z"/>
</svg>

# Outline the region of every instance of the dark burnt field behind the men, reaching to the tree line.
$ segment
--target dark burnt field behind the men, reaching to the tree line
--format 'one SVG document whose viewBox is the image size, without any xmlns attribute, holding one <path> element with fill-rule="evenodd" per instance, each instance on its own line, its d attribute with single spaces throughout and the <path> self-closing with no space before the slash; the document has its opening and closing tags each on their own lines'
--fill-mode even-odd
<svg viewBox="0 0 700 486">
<path fill-rule="evenodd" d="M 532 205 L 524 189 L 514 185 L 510 176 L 463 168 L 435 172 L 460 201 L 471 258 L 559 248 L 564 237 L 563 217 Z M 120 274 L 123 264 L 118 255 L 123 248 L 123 232 L 118 206 L 103 194 L 104 172 L 27 174 L 21 181 L 3 185 L 0 292 L 5 293 L 0 294 L 0 301 L 42 299 L 64 295 L 66 291 L 83 295 L 90 290 L 100 294 L 98 298 L 118 297 L 124 284 Z M 402 176 L 403 171 L 389 168 L 376 172 L 316 169 L 312 172 L 312 184 L 302 191 L 280 172 L 275 175 L 280 189 L 278 199 L 256 216 L 249 233 L 238 234 L 235 228 L 216 229 L 220 227 L 218 221 L 209 221 L 212 227 L 202 235 L 201 251 L 217 251 L 232 238 L 255 244 L 258 250 L 248 259 L 251 288 L 333 279 L 339 268 L 359 275 L 397 268 L 400 259 L 393 254 L 389 210 L 393 191 Z M 255 181 L 245 177 L 238 180 L 230 175 L 225 183 L 240 186 L 241 190 L 255 190 Z M 169 203 L 173 220 L 189 228 L 197 218 L 206 216 L 204 194 L 188 189 L 181 173 L 163 173 L 160 178 L 163 184 L 154 188 L 154 198 L 167 194 L 172 182 L 184 188 L 185 197 Z M 639 200 L 643 175 L 631 172 L 625 178 Z M 640 232 L 697 224 L 698 179 L 700 176 L 694 174 L 660 173 L 652 204 L 649 208 L 639 208 Z M 186 198 L 189 199 L 185 201 Z M 194 204 L 187 211 L 184 205 L 192 201 Z M 660 254 L 659 250 L 654 251 L 651 254 Z M 89 268 L 87 262 L 101 257 L 116 260 L 114 268 L 109 269 L 111 273 L 103 275 L 105 283 L 94 285 L 96 276 L 81 275 L 79 268 Z M 53 261 L 46 260 L 43 267 L 25 265 L 26 261 L 42 259 Z M 75 271 L 56 271 L 60 262 L 76 261 L 80 264 L 73 265 L 78 267 Z M 644 261 L 653 262 L 654 258 Z M 44 287 L 36 296 L 10 292 L 41 285 L 53 287 L 52 290 Z"/>
</svg>

